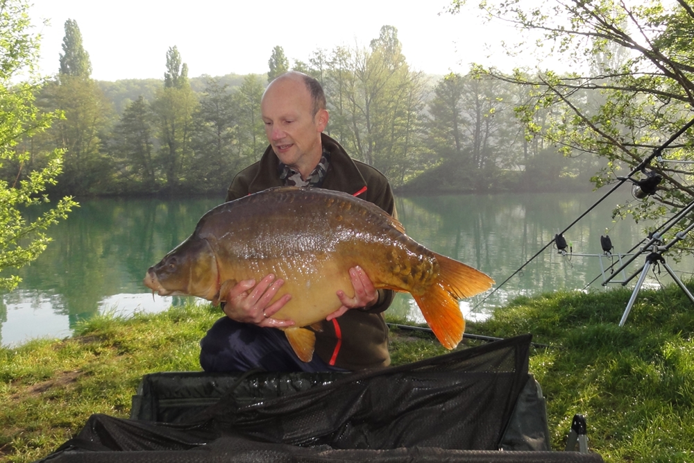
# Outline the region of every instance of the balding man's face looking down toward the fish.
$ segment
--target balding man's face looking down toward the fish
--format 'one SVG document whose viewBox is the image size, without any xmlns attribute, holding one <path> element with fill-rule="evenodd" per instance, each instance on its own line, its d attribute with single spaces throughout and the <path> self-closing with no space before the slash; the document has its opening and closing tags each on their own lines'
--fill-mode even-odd
<svg viewBox="0 0 694 463">
<path fill-rule="evenodd" d="M 314 116 L 311 94 L 303 81 L 278 78 L 260 103 L 265 134 L 280 161 L 306 178 L 321 160 L 321 132 L 328 112 Z"/>
</svg>

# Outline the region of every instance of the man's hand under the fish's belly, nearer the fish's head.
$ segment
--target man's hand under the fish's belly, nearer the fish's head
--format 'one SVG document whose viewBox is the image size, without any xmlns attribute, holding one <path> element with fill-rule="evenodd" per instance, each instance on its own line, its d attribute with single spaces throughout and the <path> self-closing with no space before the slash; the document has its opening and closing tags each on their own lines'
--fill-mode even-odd
<svg viewBox="0 0 694 463">
<path fill-rule="evenodd" d="M 273 314 L 291 299 L 291 294 L 285 294 L 270 304 L 284 283 L 285 281 L 282 279 L 275 280 L 272 273 L 260 280 L 257 285 L 255 280 L 243 280 L 229 290 L 224 305 L 224 313 L 232 320 L 253 323 L 262 327 L 283 328 L 292 326 L 294 321 L 272 318 Z"/>
</svg>

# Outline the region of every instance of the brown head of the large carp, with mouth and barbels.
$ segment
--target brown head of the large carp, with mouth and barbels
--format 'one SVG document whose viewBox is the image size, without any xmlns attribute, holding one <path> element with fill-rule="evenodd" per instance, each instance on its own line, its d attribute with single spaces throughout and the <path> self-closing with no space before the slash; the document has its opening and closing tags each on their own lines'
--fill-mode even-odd
<svg viewBox="0 0 694 463">
<path fill-rule="evenodd" d="M 144 285 L 160 296 L 198 296 L 212 301 L 219 290 L 212 246 L 192 235 L 149 267 Z"/>
</svg>

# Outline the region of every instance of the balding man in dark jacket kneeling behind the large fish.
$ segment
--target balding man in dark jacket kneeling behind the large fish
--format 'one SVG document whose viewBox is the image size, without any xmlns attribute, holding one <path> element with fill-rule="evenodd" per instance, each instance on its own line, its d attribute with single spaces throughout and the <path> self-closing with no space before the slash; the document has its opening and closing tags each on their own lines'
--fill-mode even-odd
<svg viewBox="0 0 694 463">
<path fill-rule="evenodd" d="M 260 103 L 270 146 L 259 162 L 239 172 L 226 201 L 270 187 L 321 187 L 358 196 L 394 214 L 388 180 L 376 169 L 352 160 L 342 146 L 323 134 L 328 124 L 325 95 L 316 79 L 288 72 L 268 85 Z M 201 341 L 205 371 L 354 371 L 390 364 L 388 329 L 382 316 L 393 292 L 376 291 L 360 268 L 350 269 L 353 297 L 342 289 L 341 308 L 328 315 L 316 332 L 311 362 L 296 357 L 280 330 L 293 321 L 273 319 L 291 298 L 271 303 L 284 283 L 274 275 L 259 282 L 244 280 L 233 287 L 222 317 Z"/>
</svg>

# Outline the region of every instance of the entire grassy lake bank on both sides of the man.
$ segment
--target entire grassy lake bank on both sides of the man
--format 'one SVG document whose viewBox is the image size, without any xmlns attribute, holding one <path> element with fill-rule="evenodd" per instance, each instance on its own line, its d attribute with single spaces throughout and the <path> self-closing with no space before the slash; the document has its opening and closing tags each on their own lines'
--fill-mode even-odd
<svg viewBox="0 0 694 463">
<path fill-rule="evenodd" d="M 677 287 L 521 298 L 468 332 L 534 341 L 530 371 L 548 398 L 552 448 L 586 415 L 589 445 L 607 462 L 694 460 L 694 307 Z M 196 370 L 198 340 L 219 310 L 172 308 L 130 319 L 96 317 L 76 336 L 0 349 L 0 461 L 30 462 L 80 430 L 92 413 L 128 416 L 139 379 Z M 477 342 L 479 343 L 479 342 Z M 466 344 L 466 343 L 463 343 Z M 465 348 L 466 346 L 461 346 Z M 394 364 L 446 351 L 426 334 L 393 330 Z"/>
</svg>

